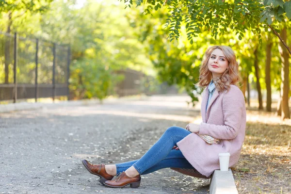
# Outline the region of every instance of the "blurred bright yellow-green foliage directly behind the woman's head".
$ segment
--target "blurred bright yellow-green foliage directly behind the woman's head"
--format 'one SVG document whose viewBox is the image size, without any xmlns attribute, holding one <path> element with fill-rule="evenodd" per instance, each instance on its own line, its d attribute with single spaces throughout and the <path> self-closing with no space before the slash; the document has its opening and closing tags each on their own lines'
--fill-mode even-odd
<svg viewBox="0 0 291 194">
<path fill-rule="evenodd" d="M 165 8 L 153 13 L 150 17 L 141 15 L 139 10 L 132 9 L 128 18 L 133 21 L 132 25 L 138 28 L 139 39 L 144 45 L 148 45 L 148 57 L 158 70 L 161 81 L 178 84 L 181 88 L 185 88 L 192 97 L 193 103 L 197 101 L 196 95 L 201 92 L 200 88 L 195 85 L 199 77 L 199 66 L 203 53 L 210 45 L 228 44 L 234 47 L 241 60 L 240 70 L 242 72 L 250 71 L 249 61 L 250 57 L 253 57 L 250 52 L 251 41 L 246 48 L 246 42 L 240 43 L 235 33 L 229 30 L 225 34 L 217 36 L 216 40 L 206 31 L 198 34 L 194 38 L 194 44 L 190 44 L 187 40 L 187 32 L 185 29 L 181 29 L 180 38 L 169 42 L 167 40 L 169 29 L 162 27 L 166 23 L 167 16 L 168 12 Z"/>
</svg>

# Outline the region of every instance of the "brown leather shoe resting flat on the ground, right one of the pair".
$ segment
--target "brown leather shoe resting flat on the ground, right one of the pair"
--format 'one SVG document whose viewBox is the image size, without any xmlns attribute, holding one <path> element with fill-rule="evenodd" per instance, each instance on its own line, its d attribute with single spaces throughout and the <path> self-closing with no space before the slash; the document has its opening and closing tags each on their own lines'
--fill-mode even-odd
<svg viewBox="0 0 291 194">
<path fill-rule="evenodd" d="M 129 177 L 125 172 L 119 173 L 113 180 L 106 180 L 104 182 L 105 186 L 113 188 L 123 188 L 130 184 L 131 188 L 138 188 L 141 184 L 141 176 Z"/>
</svg>

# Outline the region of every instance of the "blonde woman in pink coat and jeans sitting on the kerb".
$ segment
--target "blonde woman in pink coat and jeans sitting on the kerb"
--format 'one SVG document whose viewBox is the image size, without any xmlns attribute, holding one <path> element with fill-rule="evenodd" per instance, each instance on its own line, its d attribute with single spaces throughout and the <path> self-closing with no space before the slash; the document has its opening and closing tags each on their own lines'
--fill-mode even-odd
<svg viewBox="0 0 291 194">
<path fill-rule="evenodd" d="M 207 49 L 200 67 L 202 94 L 200 125 L 189 123 L 186 129 L 170 127 L 140 159 L 105 165 L 82 163 L 100 177 L 99 182 L 113 188 L 139 187 L 140 175 L 161 168 L 191 168 L 209 177 L 219 169 L 219 153 L 230 153 L 229 167 L 240 157 L 244 141 L 246 111 L 239 81 L 238 62 L 232 49 L 213 46 Z M 113 179 L 113 176 L 116 176 Z"/>
</svg>

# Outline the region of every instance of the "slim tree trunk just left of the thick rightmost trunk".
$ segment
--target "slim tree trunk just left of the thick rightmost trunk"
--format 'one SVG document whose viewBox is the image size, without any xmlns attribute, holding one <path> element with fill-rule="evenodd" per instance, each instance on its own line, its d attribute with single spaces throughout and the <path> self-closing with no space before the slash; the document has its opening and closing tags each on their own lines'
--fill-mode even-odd
<svg viewBox="0 0 291 194">
<path fill-rule="evenodd" d="M 266 69 L 265 69 L 265 81 L 266 81 L 266 89 L 267 89 L 267 103 L 266 109 L 268 112 L 271 112 L 272 105 L 272 92 L 271 92 L 271 50 L 272 50 L 272 42 L 268 42 L 266 47 Z"/>
</svg>

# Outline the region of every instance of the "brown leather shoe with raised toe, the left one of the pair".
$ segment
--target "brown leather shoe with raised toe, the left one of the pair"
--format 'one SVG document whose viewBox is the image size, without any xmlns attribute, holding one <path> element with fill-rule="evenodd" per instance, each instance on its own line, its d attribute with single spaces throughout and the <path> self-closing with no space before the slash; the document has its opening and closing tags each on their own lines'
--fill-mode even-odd
<svg viewBox="0 0 291 194">
<path fill-rule="evenodd" d="M 100 177 L 99 182 L 104 185 L 106 180 L 111 180 L 114 176 L 108 174 L 105 170 L 105 164 L 91 164 L 87 160 L 82 160 L 82 163 L 86 167 L 86 169 L 93 175 L 97 175 Z"/>
</svg>

